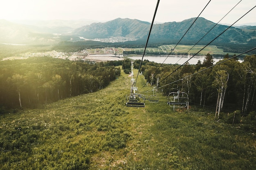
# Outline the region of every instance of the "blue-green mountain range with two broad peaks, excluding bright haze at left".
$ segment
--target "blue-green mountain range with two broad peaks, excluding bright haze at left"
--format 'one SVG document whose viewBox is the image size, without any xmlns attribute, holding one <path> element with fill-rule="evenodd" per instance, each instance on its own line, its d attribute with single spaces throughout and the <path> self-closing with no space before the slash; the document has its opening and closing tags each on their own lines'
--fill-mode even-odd
<svg viewBox="0 0 256 170">
<path fill-rule="evenodd" d="M 189 26 L 194 22 L 195 18 L 187 19 L 182 22 L 166 22 L 163 24 L 154 24 L 150 38 L 157 40 L 179 40 L 184 33 L 189 29 Z M 184 36 L 184 41 L 197 42 L 202 38 L 215 23 L 204 18 L 198 18 L 191 29 Z M 229 26 L 220 25 L 214 27 L 207 36 L 202 40 L 210 42 Z M 146 38 L 150 28 L 149 22 L 131 19 L 117 18 L 104 23 L 93 23 L 82 26 L 72 32 L 72 35 L 82 36 L 84 38 L 108 38 L 108 37 L 125 37 L 125 38 Z M 216 42 L 235 42 L 246 43 L 251 38 L 251 35 L 235 27 L 231 27 L 225 31 Z"/>
</svg>

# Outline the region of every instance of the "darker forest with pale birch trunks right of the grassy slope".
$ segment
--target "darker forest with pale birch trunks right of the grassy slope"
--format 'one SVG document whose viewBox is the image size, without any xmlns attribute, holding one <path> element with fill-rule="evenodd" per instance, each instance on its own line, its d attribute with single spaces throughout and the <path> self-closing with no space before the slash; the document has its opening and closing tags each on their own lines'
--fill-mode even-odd
<svg viewBox="0 0 256 170">
<path fill-rule="evenodd" d="M 226 54 L 223 60 L 229 57 Z M 139 63 L 140 60 L 136 60 L 134 68 L 139 68 Z M 241 63 L 233 58 L 209 69 L 206 68 L 213 66 L 210 54 L 195 65 L 187 62 L 182 67 L 177 64 L 159 66 L 143 61 L 140 71 L 152 85 L 156 85 L 159 79 L 158 87 L 162 88 L 158 90 L 166 96 L 177 90 L 186 92 L 191 104 L 214 107 L 216 117 L 219 117 L 222 109 L 240 110 L 243 114 L 256 110 L 256 55 L 247 55 Z"/>
</svg>

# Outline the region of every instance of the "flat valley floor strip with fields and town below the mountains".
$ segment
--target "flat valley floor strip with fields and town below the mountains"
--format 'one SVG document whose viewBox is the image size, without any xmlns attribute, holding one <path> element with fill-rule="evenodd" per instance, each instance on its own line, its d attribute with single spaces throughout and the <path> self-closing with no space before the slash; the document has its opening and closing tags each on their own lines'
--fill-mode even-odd
<svg viewBox="0 0 256 170">
<path fill-rule="evenodd" d="M 149 52 L 153 53 L 163 53 L 169 54 L 173 49 L 175 53 L 187 53 L 192 55 L 200 51 L 204 46 L 196 45 L 195 47 L 190 45 L 177 45 L 174 49 L 175 45 L 162 45 L 158 48 L 147 48 L 146 53 L 148 55 L 152 55 Z M 193 47 L 193 49 L 191 49 Z M 191 49 L 191 50 L 190 50 Z M 189 51 L 190 50 L 190 51 Z M 120 47 L 105 47 L 101 49 L 83 49 L 82 51 L 78 51 L 76 53 L 64 53 L 63 51 L 54 51 L 50 46 L 15 46 L 15 45 L 3 45 L 0 44 L 0 60 L 13 60 L 13 59 L 25 59 L 27 57 L 42 57 L 42 56 L 52 56 L 57 58 L 70 58 L 70 60 L 79 60 L 84 59 L 88 55 L 95 54 L 111 54 L 111 55 L 119 55 L 123 54 L 124 51 L 139 51 L 141 53 L 144 52 L 144 48 L 120 48 Z M 223 49 L 218 49 L 216 46 L 207 46 L 204 50 L 202 50 L 198 55 L 206 55 L 210 54 L 223 54 Z M 229 53 L 229 55 L 233 55 L 234 53 Z M 136 55 L 130 54 L 130 55 Z M 91 59 L 88 59 L 91 60 Z M 106 59 L 104 59 L 106 60 Z M 112 59 L 111 59 L 112 60 Z"/>
</svg>

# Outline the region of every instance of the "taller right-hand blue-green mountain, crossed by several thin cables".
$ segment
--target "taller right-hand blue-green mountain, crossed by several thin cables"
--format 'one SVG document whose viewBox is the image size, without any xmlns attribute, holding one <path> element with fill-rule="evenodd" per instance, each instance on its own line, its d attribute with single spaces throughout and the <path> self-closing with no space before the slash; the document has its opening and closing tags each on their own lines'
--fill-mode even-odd
<svg viewBox="0 0 256 170">
<path fill-rule="evenodd" d="M 156 24 L 153 26 L 152 38 L 162 38 L 162 39 L 174 39 L 180 40 L 184 33 L 189 29 L 189 26 L 195 21 L 196 18 L 190 18 L 182 22 L 166 22 L 164 24 Z M 183 41 L 193 41 L 197 42 L 209 30 L 215 23 L 206 20 L 204 18 L 198 18 L 193 24 L 191 29 L 186 33 Z M 216 38 L 220 33 L 225 31 L 229 26 L 217 24 L 203 39 L 202 42 L 210 42 Z M 150 35 L 151 36 L 151 35 Z M 235 42 L 235 43 L 246 43 L 251 36 L 241 29 L 236 29 L 235 27 L 229 28 L 225 33 L 223 33 L 215 42 Z"/>
</svg>

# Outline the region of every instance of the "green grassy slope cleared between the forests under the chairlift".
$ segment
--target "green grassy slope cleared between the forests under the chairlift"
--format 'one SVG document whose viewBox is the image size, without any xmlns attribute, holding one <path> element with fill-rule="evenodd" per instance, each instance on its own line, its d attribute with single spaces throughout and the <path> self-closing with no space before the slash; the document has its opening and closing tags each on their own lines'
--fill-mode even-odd
<svg viewBox="0 0 256 170">
<path fill-rule="evenodd" d="M 143 84 L 141 75 L 137 86 Z M 254 135 L 210 112 L 173 111 L 164 96 L 144 108 L 126 107 L 129 91 L 122 72 L 99 92 L 0 115 L 0 169 L 256 169 Z"/>
</svg>

